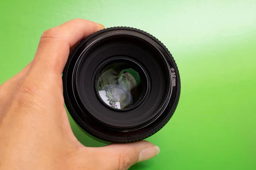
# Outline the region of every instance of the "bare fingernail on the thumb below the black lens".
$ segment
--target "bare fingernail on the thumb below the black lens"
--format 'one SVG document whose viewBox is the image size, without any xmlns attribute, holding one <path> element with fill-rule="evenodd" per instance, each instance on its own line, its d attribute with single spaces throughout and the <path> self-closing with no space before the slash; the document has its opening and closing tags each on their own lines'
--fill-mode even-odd
<svg viewBox="0 0 256 170">
<path fill-rule="evenodd" d="M 137 162 L 151 159 L 157 156 L 158 153 L 160 153 L 160 148 L 158 146 L 147 147 L 140 152 L 139 159 Z"/>
</svg>

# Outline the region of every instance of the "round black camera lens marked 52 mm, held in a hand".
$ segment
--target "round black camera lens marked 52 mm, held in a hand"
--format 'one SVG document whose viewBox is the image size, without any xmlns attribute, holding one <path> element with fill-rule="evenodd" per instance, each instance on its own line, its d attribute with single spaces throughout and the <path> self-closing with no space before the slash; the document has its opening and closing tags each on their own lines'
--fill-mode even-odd
<svg viewBox="0 0 256 170">
<path fill-rule="evenodd" d="M 63 75 L 64 100 L 85 132 L 106 142 L 147 138 L 172 117 L 180 76 L 167 48 L 128 27 L 98 31 L 70 54 Z"/>
</svg>

